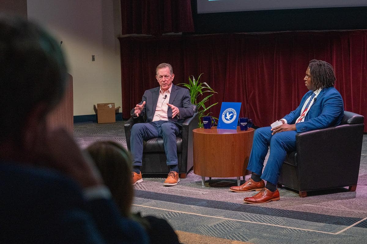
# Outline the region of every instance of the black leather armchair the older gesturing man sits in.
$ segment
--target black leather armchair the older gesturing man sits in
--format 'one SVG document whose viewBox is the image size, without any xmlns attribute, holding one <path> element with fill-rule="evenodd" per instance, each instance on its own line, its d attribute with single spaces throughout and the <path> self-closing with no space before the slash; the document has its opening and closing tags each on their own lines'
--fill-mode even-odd
<svg viewBox="0 0 367 244">
<path fill-rule="evenodd" d="M 177 136 L 177 157 L 179 177 L 186 178 L 186 174 L 193 166 L 193 147 L 192 147 L 192 130 L 197 128 L 199 124 L 199 113 L 196 106 L 193 106 L 194 115 L 185 119 L 181 128 L 181 136 Z M 142 122 L 142 121 L 140 121 Z M 134 123 L 139 123 L 137 119 L 130 118 L 125 124 L 125 135 L 128 150 L 130 148 L 130 130 Z M 164 152 L 163 139 L 160 137 L 143 141 L 143 166 L 142 174 L 167 174 L 168 166 L 167 158 Z"/>
</svg>

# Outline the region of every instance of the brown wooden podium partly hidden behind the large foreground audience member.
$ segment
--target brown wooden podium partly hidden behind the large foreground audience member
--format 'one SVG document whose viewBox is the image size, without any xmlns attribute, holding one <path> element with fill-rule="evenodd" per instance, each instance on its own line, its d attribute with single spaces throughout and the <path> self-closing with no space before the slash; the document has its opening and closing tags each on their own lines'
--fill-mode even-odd
<svg viewBox="0 0 367 244">
<path fill-rule="evenodd" d="M 74 130 L 74 108 L 73 108 L 73 76 L 68 74 L 66 80 L 66 91 L 61 102 L 48 115 L 50 128 L 64 127 L 70 134 Z"/>
</svg>

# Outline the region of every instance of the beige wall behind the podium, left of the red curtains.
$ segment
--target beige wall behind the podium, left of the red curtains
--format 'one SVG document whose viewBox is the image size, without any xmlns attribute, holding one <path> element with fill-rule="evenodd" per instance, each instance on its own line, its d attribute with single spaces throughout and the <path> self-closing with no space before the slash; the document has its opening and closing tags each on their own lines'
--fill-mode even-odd
<svg viewBox="0 0 367 244">
<path fill-rule="evenodd" d="M 73 76 L 74 115 L 94 114 L 97 103 L 121 106 L 120 1 L 28 0 L 27 9 L 29 20 L 63 42 Z"/>
</svg>

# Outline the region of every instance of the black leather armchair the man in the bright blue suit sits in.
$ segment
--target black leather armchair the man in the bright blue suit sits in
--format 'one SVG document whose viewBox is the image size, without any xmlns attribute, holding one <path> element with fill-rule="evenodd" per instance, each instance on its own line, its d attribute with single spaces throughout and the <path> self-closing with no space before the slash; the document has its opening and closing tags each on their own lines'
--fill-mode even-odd
<svg viewBox="0 0 367 244">
<path fill-rule="evenodd" d="M 361 159 L 363 119 L 344 111 L 342 123 L 296 135 L 297 150 L 288 153 L 278 187 L 286 185 L 306 197 L 307 191 L 349 187 L 355 191 Z"/>
</svg>

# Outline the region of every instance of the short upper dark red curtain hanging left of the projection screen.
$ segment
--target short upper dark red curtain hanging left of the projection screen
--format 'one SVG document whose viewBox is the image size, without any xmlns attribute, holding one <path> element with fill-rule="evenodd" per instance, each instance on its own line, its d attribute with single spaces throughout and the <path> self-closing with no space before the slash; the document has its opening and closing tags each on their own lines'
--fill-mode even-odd
<svg viewBox="0 0 367 244">
<path fill-rule="evenodd" d="M 190 0 L 121 0 L 122 34 L 194 32 Z"/>
</svg>

